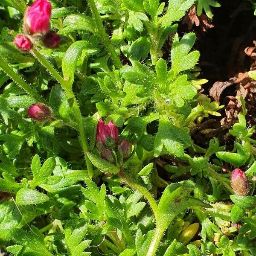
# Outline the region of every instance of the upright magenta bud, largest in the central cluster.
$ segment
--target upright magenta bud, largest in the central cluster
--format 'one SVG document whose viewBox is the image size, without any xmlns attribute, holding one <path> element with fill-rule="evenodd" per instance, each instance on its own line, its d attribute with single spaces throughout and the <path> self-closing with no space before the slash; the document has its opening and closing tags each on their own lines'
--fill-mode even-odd
<svg viewBox="0 0 256 256">
<path fill-rule="evenodd" d="M 96 147 L 99 151 L 105 148 L 116 147 L 118 142 L 118 128 L 113 124 L 111 120 L 108 125 L 105 125 L 102 119 L 98 122 L 97 134 L 96 134 Z"/>
</svg>

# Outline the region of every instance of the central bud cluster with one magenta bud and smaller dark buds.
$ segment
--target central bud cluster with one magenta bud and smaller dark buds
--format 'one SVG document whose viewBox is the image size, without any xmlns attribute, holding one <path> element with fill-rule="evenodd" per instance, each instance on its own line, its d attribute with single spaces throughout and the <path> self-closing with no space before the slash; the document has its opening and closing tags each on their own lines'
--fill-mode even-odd
<svg viewBox="0 0 256 256">
<path fill-rule="evenodd" d="M 119 142 L 118 128 L 111 120 L 107 125 L 102 119 L 99 120 L 96 134 L 96 147 L 99 151 L 100 157 L 110 163 L 122 164 L 132 151 L 131 143 L 128 140 Z"/>
</svg>

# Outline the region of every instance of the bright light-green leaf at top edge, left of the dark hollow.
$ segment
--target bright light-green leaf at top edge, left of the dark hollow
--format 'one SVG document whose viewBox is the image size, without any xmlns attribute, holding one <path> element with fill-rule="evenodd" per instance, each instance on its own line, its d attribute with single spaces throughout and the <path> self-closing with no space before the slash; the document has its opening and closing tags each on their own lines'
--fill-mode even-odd
<svg viewBox="0 0 256 256">
<path fill-rule="evenodd" d="M 169 26 L 172 21 L 182 18 L 195 0 L 169 0 L 169 7 L 160 21 L 162 26 Z"/>
</svg>

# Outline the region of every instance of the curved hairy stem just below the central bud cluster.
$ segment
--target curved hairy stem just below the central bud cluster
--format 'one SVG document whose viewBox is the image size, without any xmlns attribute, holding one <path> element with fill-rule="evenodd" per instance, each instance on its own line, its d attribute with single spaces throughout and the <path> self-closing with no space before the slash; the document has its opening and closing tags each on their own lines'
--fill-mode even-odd
<svg viewBox="0 0 256 256">
<path fill-rule="evenodd" d="M 148 204 L 151 207 L 155 218 L 157 218 L 157 202 L 154 200 L 150 192 L 148 192 L 147 189 L 138 184 L 133 178 L 128 177 L 122 170 L 120 170 L 119 172 L 119 177 L 123 183 L 127 184 L 129 187 L 137 190 L 143 195 L 143 197 L 148 201 Z"/>
</svg>

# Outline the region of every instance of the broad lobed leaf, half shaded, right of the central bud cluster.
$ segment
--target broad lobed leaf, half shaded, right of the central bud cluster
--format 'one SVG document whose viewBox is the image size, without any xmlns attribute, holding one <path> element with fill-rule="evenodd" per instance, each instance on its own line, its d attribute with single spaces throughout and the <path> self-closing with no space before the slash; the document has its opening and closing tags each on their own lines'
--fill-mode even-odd
<svg viewBox="0 0 256 256">
<path fill-rule="evenodd" d="M 160 117 L 159 128 L 154 141 L 155 157 L 158 157 L 161 154 L 163 145 L 170 154 L 182 157 L 184 154 L 184 148 L 191 145 L 191 140 L 189 134 L 187 134 L 182 128 L 173 125 L 168 118 Z"/>
</svg>

